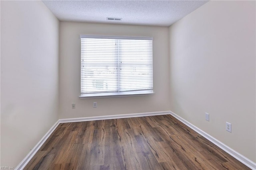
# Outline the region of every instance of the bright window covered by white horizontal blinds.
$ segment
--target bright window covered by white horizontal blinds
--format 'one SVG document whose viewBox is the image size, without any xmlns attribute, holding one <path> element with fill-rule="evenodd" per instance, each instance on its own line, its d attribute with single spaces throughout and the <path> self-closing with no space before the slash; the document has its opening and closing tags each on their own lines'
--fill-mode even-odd
<svg viewBox="0 0 256 170">
<path fill-rule="evenodd" d="M 152 38 L 80 38 L 80 97 L 153 93 Z"/>
</svg>

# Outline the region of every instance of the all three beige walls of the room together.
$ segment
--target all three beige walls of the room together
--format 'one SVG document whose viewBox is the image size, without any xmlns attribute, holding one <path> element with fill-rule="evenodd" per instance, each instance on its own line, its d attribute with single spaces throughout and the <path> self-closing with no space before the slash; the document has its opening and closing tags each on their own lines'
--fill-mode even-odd
<svg viewBox="0 0 256 170">
<path fill-rule="evenodd" d="M 210 1 L 169 29 L 61 21 L 60 30 L 41 1 L 0 3 L 1 166 L 17 166 L 57 119 L 166 110 L 256 162 L 254 1 Z M 156 94 L 80 100 L 80 34 L 154 37 Z"/>
</svg>

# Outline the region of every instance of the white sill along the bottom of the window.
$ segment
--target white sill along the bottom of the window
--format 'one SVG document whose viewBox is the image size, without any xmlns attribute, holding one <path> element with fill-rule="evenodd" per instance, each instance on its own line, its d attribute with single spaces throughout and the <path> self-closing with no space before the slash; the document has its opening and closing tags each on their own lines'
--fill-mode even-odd
<svg viewBox="0 0 256 170">
<path fill-rule="evenodd" d="M 152 90 L 140 93 L 124 92 L 124 93 L 97 93 L 86 94 L 79 96 L 80 99 L 97 99 L 97 98 L 124 98 L 124 97 L 136 97 L 136 96 L 152 96 L 155 93 Z"/>
</svg>

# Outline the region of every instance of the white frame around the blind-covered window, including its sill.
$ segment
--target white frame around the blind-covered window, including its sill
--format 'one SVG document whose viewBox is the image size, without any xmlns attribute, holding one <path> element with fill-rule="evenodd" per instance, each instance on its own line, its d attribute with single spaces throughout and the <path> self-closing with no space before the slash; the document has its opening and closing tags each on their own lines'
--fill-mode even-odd
<svg viewBox="0 0 256 170">
<path fill-rule="evenodd" d="M 153 71 L 153 37 L 127 37 L 127 36 L 102 36 L 102 35 L 80 35 L 80 43 L 82 38 L 93 38 L 93 39 L 132 39 L 132 40 L 151 40 L 152 41 L 152 89 L 148 90 L 136 90 L 128 92 L 99 92 L 99 93 L 87 93 L 82 94 L 81 88 L 81 79 L 82 79 L 82 55 L 80 55 L 80 99 L 88 98 L 113 98 L 113 97 L 131 97 L 131 96 L 151 96 L 154 95 L 154 71 Z M 82 51 L 82 47 L 80 52 Z"/>
</svg>

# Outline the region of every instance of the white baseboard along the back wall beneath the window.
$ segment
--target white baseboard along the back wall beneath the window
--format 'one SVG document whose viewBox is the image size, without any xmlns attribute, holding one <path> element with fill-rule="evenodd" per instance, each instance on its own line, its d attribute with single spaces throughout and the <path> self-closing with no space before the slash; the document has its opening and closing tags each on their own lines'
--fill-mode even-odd
<svg viewBox="0 0 256 170">
<path fill-rule="evenodd" d="M 106 116 L 96 116 L 96 117 L 81 117 L 81 118 L 71 118 L 71 119 L 60 119 L 60 123 L 69 122 L 79 122 L 79 121 L 94 121 L 94 120 L 106 120 L 106 119 L 120 119 L 129 117 L 143 117 L 143 116 L 155 116 L 155 115 L 167 115 L 170 111 L 158 111 L 158 112 L 148 112 L 148 113 L 133 113 L 125 115 L 106 115 Z"/>
</svg>

